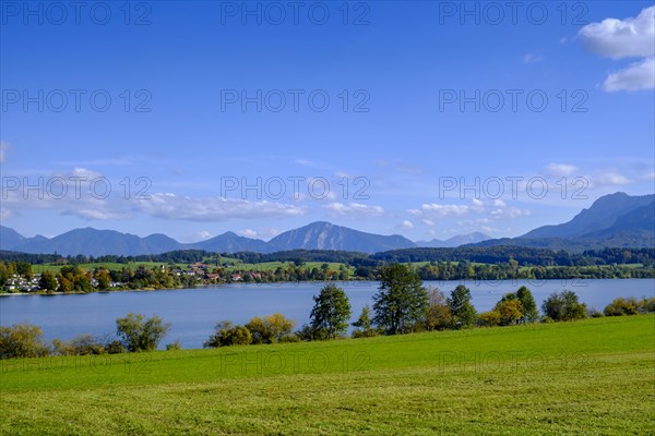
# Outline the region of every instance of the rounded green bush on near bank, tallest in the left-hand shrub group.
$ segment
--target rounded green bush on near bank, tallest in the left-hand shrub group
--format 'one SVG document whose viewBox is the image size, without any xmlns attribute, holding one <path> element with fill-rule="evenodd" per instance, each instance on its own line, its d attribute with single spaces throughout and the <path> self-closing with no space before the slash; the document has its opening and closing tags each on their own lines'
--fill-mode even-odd
<svg viewBox="0 0 655 436">
<path fill-rule="evenodd" d="M 118 337 L 129 351 L 152 351 L 170 329 L 162 318 L 145 318 L 141 314 L 129 313 L 124 318 L 116 319 Z"/>
</svg>

